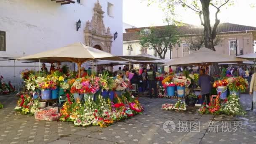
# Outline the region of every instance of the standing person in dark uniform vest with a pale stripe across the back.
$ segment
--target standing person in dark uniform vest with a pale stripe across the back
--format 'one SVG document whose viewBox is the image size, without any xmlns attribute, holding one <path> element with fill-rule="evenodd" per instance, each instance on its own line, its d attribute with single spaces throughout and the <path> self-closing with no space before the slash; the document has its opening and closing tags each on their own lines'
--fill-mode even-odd
<svg viewBox="0 0 256 144">
<path fill-rule="evenodd" d="M 150 64 L 149 65 L 149 70 L 147 71 L 147 79 L 149 82 L 149 95 L 150 98 L 152 99 L 152 90 L 154 91 L 155 98 L 158 98 L 157 96 L 157 81 L 156 81 L 156 74 L 154 70 L 154 65 Z"/>
</svg>

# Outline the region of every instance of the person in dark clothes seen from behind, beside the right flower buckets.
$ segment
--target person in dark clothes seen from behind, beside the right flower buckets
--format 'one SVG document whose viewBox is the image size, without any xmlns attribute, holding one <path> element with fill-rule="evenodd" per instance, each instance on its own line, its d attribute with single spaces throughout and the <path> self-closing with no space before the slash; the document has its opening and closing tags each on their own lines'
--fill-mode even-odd
<svg viewBox="0 0 256 144">
<path fill-rule="evenodd" d="M 211 82 L 213 82 L 213 78 L 207 73 L 205 73 L 205 69 L 202 69 L 202 74 L 199 76 L 198 79 L 198 85 L 201 88 L 203 101 L 205 101 L 206 97 L 206 104 L 209 104 L 210 102 L 210 92 L 212 88 Z"/>
</svg>

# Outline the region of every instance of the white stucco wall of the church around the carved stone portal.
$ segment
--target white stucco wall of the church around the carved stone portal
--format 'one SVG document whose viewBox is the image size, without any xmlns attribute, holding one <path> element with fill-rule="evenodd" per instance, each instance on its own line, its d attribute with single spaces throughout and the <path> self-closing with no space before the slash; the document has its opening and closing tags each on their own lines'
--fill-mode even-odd
<svg viewBox="0 0 256 144">
<path fill-rule="evenodd" d="M 75 0 L 76 1 L 76 0 Z M 0 0 L 0 31 L 6 32 L 6 52 L 12 55 L 29 55 L 83 42 L 86 21 L 91 21 L 97 0 L 81 0 L 81 4 L 60 5 L 51 0 Z M 107 16 L 107 3 L 114 5 L 113 17 Z M 104 13 L 105 27 L 112 34 L 112 53 L 123 54 L 123 0 L 99 0 Z M 81 28 L 76 30 L 76 22 Z M 13 79 L 13 61 L 0 61 L 0 73 L 5 80 L 20 82 L 19 71 L 34 64 L 16 61 L 16 80 Z M 5 67 L 8 66 L 8 67 Z M 21 67 L 24 66 L 24 67 Z M 11 73 L 10 73 L 11 72 Z"/>
</svg>

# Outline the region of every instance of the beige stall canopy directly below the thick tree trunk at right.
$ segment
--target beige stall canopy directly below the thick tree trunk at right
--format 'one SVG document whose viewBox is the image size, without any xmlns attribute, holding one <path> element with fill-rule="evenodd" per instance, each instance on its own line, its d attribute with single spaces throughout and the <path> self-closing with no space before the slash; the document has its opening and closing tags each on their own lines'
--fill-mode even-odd
<svg viewBox="0 0 256 144">
<path fill-rule="evenodd" d="M 230 63 L 230 62 L 241 62 L 247 61 L 246 59 L 237 58 L 225 54 L 212 51 L 209 48 L 200 48 L 187 56 L 183 56 L 178 59 L 171 60 L 163 65 L 172 66 L 191 66 L 191 65 L 209 65 L 213 62 L 218 63 Z"/>
</svg>

